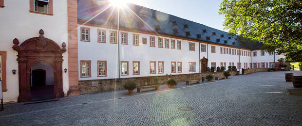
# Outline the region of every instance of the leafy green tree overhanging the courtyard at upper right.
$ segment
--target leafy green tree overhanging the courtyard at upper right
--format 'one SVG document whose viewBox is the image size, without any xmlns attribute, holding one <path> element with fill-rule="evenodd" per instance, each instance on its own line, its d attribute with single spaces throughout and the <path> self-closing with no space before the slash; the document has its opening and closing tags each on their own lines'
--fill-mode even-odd
<svg viewBox="0 0 302 126">
<path fill-rule="evenodd" d="M 224 0 L 219 13 L 231 35 L 259 41 L 268 52 L 286 53 L 286 60 L 302 61 L 302 0 Z"/>
</svg>

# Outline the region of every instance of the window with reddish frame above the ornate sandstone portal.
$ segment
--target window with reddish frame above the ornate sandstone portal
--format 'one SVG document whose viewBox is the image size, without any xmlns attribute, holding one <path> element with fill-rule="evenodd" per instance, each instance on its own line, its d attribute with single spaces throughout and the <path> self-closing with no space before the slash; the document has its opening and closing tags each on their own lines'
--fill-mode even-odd
<svg viewBox="0 0 302 126">
<path fill-rule="evenodd" d="M 29 0 L 29 1 L 30 1 L 29 12 L 44 14 L 44 15 L 53 15 L 53 0 Z"/>
</svg>

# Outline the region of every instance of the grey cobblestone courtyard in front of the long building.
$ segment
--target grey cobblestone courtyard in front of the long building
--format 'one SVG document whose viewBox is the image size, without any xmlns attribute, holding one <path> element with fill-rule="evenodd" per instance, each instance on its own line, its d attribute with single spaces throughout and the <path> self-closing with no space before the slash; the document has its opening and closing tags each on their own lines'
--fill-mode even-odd
<svg viewBox="0 0 302 126">
<path fill-rule="evenodd" d="M 259 72 L 169 90 L 126 90 L 5 105 L 2 126 L 302 125 L 302 96 L 286 92 L 287 72 Z M 295 75 L 302 72 L 293 72 Z M 83 104 L 84 103 L 84 104 Z M 191 108 L 187 108 L 191 107 Z M 183 109 L 183 110 L 182 110 Z"/>
</svg>

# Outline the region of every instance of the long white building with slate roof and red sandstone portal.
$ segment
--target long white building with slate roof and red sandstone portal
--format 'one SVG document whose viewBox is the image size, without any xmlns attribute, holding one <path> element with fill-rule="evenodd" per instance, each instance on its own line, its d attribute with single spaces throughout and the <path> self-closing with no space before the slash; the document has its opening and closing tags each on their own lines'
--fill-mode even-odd
<svg viewBox="0 0 302 126">
<path fill-rule="evenodd" d="M 79 95 L 80 82 L 91 80 L 274 68 L 284 57 L 134 4 L 118 11 L 106 0 L 0 0 L 0 15 L 4 101 Z"/>
</svg>

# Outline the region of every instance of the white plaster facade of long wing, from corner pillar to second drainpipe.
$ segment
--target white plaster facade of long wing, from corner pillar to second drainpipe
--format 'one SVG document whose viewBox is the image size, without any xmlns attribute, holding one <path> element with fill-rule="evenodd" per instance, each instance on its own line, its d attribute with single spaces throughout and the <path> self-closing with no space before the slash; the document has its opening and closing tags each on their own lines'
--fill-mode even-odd
<svg viewBox="0 0 302 126">
<path fill-rule="evenodd" d="M 91 42 L 80 41 L 80 25 L 78 27 L 78 57 L 80 60 L 91 60 L 92 66 L 92 77 L 91 78 L 80 78 L 80 80 L 89 79 L 113 79 L 118 78 L 118 44 L 110 43 L 110 31 L 116 31 L 111 29 L 97 28 L 91 26 L 82 26 L 90 28 L 91 30 Z M 97 29 L 106 30 L 106 43 L 97 43 Z M 121 31 L 128 32 L 128 31 Z M 195 51 L 189 51 L 189 41 L 180 40 L 168 37 L 161 37 L 156 35 L 139 34 L 139 45 L 132 45 L 132 33 L 128 32 L 128 45 L 120 45 L 120 61 L 129 61 L 129 75 L 121 76 L 120 78 L 132 78 L 132 77 L 146 77 L 146 76 L 160 76 L 160 75 L 175 75 L 175 74 L 189 74 L 199 73 L 199 46 L 195 43 Z M 150 47 L 150 36 L 155 37 L 155 47 Z M 147 38 L 147 44 L 142 43 L 142 38 Z M 182 42 L 181 50 L 171 48 L 159 48 L 158 37 L 175 40 Z M 170 44 L 170 43 L 169 43 Z M 171 46 L 171 45 L 170 45 Z M 89 49 L 88 49 L 89 48 Z M 107 61 L 107 77 L 97 77 L 97 61 Z M 140 61 L 140 75 L 133 75 L 132 61 Z M 150 74 L 150 61 L 156 61 L 156 74 Z M 158 74 L 158 61 L 164 61 L 164 73 Z M 171 62 L 182 62 L 182 73 L 171 73 Z M 189 62 L 196 62 L 195 72 L 189 72 Z M 80 66 L 80 65 L 79 65 Z M 79 67 L 80 73 L 80 67 Z"/>
</svg>

